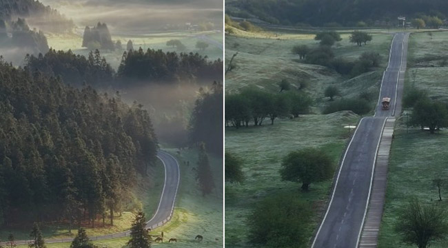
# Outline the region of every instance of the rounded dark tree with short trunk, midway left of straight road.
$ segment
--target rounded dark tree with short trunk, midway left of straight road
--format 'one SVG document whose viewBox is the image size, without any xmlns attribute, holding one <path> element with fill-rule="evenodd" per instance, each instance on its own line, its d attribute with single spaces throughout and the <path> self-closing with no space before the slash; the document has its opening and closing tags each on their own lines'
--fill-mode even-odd
<svg viewBox="0 0 448 248">
<path fill-rule="evenodd" d="M 318 148 L 290 152 L 283 158 L 281 166 L 282 180 L 301 182 L 301 188 L 305 191 L 310 184 L 327 180 L 333 175 L 332 158 Z"/>
</svg>

